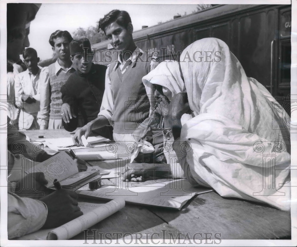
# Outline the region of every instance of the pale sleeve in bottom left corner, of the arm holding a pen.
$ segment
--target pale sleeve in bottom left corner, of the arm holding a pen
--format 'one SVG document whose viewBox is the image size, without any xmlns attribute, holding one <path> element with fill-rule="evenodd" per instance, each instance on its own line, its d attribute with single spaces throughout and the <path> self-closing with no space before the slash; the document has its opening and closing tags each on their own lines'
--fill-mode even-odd
<svg viewBox="0 0 297 247">
<path fill-rule="evenodd" d="M 7 194 L 8 238 L 20 237 L 39 230 L 47 218 L 47 207 L 42 201 Z"/>
</svg>

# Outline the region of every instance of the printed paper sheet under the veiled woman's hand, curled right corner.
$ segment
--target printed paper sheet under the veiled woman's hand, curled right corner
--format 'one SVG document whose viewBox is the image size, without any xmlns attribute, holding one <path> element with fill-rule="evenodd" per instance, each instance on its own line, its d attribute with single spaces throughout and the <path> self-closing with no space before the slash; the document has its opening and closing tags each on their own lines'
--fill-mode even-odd
<svg viewBox="0 0 297 247">
<path fill-rule="evenodd" d="M 193 188 L 186 179 L 160 179 L 137 183 L 137 186 L 124 182 L 120 186 L 102 186 L 94 191 L 77 192 L 80 197 L 86 198 L 123 198 L 130 203 L 181 209 L 194 195 L 210 191 L 212 189 L 205 187 Z"/>
</svg>

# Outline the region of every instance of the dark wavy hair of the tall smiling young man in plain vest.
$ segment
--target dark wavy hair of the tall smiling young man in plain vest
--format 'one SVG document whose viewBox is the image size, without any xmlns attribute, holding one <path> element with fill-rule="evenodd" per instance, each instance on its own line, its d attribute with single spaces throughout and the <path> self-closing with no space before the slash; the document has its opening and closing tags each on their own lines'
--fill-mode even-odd
<svg viewBox="0 0 297 247">
<path fill-rule="evenodd" d="M 104 17 L 99 20 L 98 32 L 99 29 L 102 29 L 102 31 L 105 33 L 105 28 L 113 22 L 116 22 L 126 29 L 128 27 L 128 24 L 132 23 L 130 15 L 127 11 L 111 10 L 108 14 L 104 15 Z"/>
</svg>

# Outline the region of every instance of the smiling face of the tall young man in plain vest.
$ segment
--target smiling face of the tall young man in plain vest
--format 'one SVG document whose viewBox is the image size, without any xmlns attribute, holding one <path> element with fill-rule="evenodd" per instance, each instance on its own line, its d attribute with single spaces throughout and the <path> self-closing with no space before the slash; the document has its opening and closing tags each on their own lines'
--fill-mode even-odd
<svg viewBox="0 0 297 247">
<path fill-rule="evenodd" d="M 110 44 L 120 52 L 129 50 L 133 42 L 132 32 L 133 27 L 131 23 L 129 23 L 127 29 L 116 22 L 111 23 L 105 28 L 105 34 Z"/>
</svg>

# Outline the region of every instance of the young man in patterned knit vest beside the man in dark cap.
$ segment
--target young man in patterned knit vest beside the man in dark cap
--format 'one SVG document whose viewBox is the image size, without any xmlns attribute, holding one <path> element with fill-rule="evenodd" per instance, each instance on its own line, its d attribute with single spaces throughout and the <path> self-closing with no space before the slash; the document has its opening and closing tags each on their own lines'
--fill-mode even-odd
<svg viewBox="0 0 297 247">
<path fill-rule="evenodd" d="M 70 60 L 69 44 L 72 39 L 68 31 L 57 30 L 50 35 L 49 43 L 58 59 L 40 73 L 40 112 L 37 116 L 40 129 L 63 128 L 60 89 L 75 72 Z"/>
</svg>

